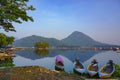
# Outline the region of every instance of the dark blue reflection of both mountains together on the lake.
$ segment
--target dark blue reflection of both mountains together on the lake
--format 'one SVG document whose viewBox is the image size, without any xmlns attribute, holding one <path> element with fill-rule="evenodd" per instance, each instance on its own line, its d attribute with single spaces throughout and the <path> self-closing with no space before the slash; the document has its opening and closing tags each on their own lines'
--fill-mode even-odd
<svg viewBox="0 0 120 80">
<path fill-rule="evenodd" d="M 93 50 L 50 50 L 48 55 L 45 56 L 39 56 L 34 53 L 33 50 L 23 50 L 23 51 L 17 51 L 16 54 L 31 59 L 36 60 L 43 57 L 54 57 L 56 55 L 62 55 L 67 57 L 69 60 L 73 61 L 76 57 L 80 59 L 80 61 L 84 62 L 93 55 L 99 53 L 101 51 L 93 51 Z"/>
</svg>

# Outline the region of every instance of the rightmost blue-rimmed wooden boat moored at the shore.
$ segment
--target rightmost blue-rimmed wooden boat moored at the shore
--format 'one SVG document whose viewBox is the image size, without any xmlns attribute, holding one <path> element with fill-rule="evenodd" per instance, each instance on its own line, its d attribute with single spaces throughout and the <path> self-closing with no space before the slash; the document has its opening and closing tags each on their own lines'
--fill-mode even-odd
<svg viewBox="0 0 120 80">
<path fill-rule="evenodd" d="M 108 78 L 114 73 L 114 71 L 115 66 L 108 68 L 108 65 L 106 64 L 103 67 L 101 67 L 101 69 L 98 72 L 98 75 L 100 78 Z"/>
</svg>

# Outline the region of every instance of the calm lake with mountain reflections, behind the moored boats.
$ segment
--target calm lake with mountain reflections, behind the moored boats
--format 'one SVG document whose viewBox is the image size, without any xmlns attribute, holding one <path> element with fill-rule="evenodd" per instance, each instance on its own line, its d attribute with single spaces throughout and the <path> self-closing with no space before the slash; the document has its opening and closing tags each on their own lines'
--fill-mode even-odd
<svg viewBox="0 0 120 80">
<path fill-rule="evenodd" d="M 73 72 L 73 61 L 75 58 L 84 64 L 85 67 L 93 60 L 97 59 L 99 68 L 109 59 L 115 64 L 120 64 L 120 53 L 114 51 L 94 51 L 94 50 L 46 50 L 34 51 L 30 49 L 16 51 L 16 57 L 13 58 L 15 66 L 43 66 L 48 69 L 54 69 L 55 57 L 61 55 L 64 59 L 65 71 Z"/>
</svg>

